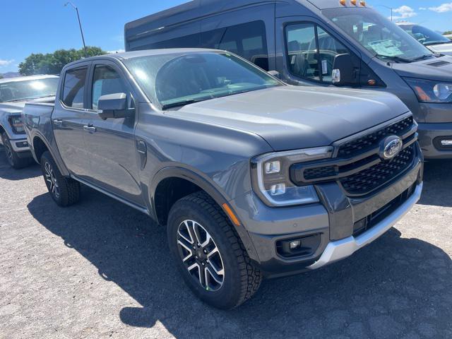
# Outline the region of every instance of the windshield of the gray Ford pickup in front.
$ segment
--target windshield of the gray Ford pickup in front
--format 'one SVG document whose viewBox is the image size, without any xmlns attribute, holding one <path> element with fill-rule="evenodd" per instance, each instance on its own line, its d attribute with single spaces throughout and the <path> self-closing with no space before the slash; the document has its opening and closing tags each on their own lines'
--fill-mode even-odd
<svg viewBox="0 0 452 339">
<path fill-rule="evenodd" d="M 145 94 L 162 109 L 281 85 L 229 53 L 172 53 L 124 61 Z"/>
</svg>

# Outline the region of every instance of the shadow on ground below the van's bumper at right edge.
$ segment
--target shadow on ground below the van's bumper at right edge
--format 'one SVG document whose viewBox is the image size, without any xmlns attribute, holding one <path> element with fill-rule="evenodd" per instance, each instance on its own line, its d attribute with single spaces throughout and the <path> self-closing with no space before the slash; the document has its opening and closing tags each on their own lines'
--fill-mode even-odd
<svg viewBox="0 0 452 339">
<path fill-rule="evenodd" d="M 452 160 L 426 162 L 422 205 L 452 207 Z"/>
</svg>

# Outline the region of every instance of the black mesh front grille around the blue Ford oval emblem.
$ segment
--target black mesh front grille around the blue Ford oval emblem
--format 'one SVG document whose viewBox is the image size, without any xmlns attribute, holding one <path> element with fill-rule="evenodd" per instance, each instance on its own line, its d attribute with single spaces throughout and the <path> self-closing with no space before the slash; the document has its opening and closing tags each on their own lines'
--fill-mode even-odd
<svg viewBox="0 0 452 339">
<path fill-rule="evenodd" d="M 403 175 L 417 155 L 417 124 L 412 116 L 376 127 L 355 138 L 338 141 L 335 157 L 292 165 L 290 177 L 299 186 L 338 182 L 347 196 L 364 196 Z M 381 143 L 388 136 L 399 136 L 403 150 L 393 159 L 380 157 Z"/>
</svg>

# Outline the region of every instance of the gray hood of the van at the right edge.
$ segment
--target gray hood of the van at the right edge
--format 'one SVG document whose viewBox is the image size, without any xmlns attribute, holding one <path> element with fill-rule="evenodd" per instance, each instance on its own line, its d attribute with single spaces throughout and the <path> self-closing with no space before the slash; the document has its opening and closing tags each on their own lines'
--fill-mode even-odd
<svg viewBox="0 0 452 339">
<path fill-rule="evenodd" d="M 452 57 L 428 59 L 411 64 L 392 64 L 399 76 L 437 81 L 452 81 Z"/>
</svg>

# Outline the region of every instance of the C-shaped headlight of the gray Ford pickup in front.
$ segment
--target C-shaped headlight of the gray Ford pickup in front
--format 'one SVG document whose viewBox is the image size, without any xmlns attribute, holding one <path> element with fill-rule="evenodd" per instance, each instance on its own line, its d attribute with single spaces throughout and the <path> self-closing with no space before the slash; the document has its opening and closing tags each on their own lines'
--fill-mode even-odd
<svg viewBox="0 0 452 339">
<path fill-rule="evenodd" d="M 253 189 L 268 206 L 295 206 L 319 202 L 314 186 L 297 186 L 290 167 L 299 162 L 329 158 L 332 147 L 307 148 L 260 155 L 251 160 Z"/>
</svg>

